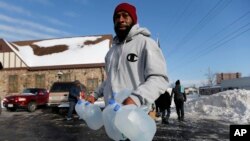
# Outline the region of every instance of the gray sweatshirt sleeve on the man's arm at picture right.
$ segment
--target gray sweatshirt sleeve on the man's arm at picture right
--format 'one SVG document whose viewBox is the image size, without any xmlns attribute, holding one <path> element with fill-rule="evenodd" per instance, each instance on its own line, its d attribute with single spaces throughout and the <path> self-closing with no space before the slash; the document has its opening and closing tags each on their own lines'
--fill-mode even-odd
<svg viewBox="0 0 250 141">
<path fill-rule="evenodd" d="M 146 43 L 145 52 L 145 82 L 132 95 L 138 96 L 141 104 L 153 103 L 160 94 L 167 90 L 168 77 L 165 58 L 156 42 Z"/>
</svg>

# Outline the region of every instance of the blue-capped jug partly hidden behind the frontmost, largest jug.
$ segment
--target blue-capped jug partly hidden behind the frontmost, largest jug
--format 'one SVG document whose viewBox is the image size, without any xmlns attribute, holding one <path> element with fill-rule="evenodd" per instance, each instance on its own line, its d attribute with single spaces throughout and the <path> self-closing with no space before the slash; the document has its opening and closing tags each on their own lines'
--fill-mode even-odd
<svg viewBox="0 0 250 141">
<path fill-rule="evenodd" d="M 104 128 L 109 138 L 115 141 L 125 140 L 126 137 L 115 126 L 116 106 L 120 105 L 114 99 L 110 99 L 109 105 L 103 110 Z"/>
</svg>

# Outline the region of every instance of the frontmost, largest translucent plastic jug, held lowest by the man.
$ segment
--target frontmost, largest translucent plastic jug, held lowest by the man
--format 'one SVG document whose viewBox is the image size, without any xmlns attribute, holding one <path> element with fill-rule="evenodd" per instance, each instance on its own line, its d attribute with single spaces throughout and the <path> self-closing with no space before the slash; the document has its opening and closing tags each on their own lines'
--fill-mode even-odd
<svg viewBox="0 0 250 141">
<path fill-rule="evenodd" d="M 125 105 L 118 109 L 115 126 L 131 141 L 152 141 L 156 133 L 155 121 L 135 105 Z"/>
</svg>

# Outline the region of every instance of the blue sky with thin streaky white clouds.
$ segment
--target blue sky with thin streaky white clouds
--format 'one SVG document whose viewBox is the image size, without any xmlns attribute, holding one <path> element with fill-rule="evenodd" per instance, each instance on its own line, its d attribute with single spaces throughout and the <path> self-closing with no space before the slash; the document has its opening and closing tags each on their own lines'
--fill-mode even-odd
<svg viewBox="0 0 250 141">
<path fill-rule="evenodd" d="M 249 0 L 0 0 L 0 38 L 114 35 L 121 2 L 134 4 L 140 26 L 160 40 L 171 83 L 204 84 L 208 69 L 250 76 Z"/>
</svg>

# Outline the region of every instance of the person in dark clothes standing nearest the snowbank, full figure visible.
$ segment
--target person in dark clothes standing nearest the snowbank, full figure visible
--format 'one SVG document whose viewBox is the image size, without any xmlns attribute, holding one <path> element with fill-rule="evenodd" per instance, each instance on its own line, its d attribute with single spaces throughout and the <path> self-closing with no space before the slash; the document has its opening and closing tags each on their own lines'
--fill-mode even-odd
<svg viewBox="0 0 250 141">
<path fill-rule="evenodd" d="M 185 92 L 181 91 L 180 80 L 175 82 L 175 87 L 171 92 L 171 100 L 174 95 L 174 103 L 179 121 L 184 121 L 184 102 L 187 100 Z"/>
</svg>

